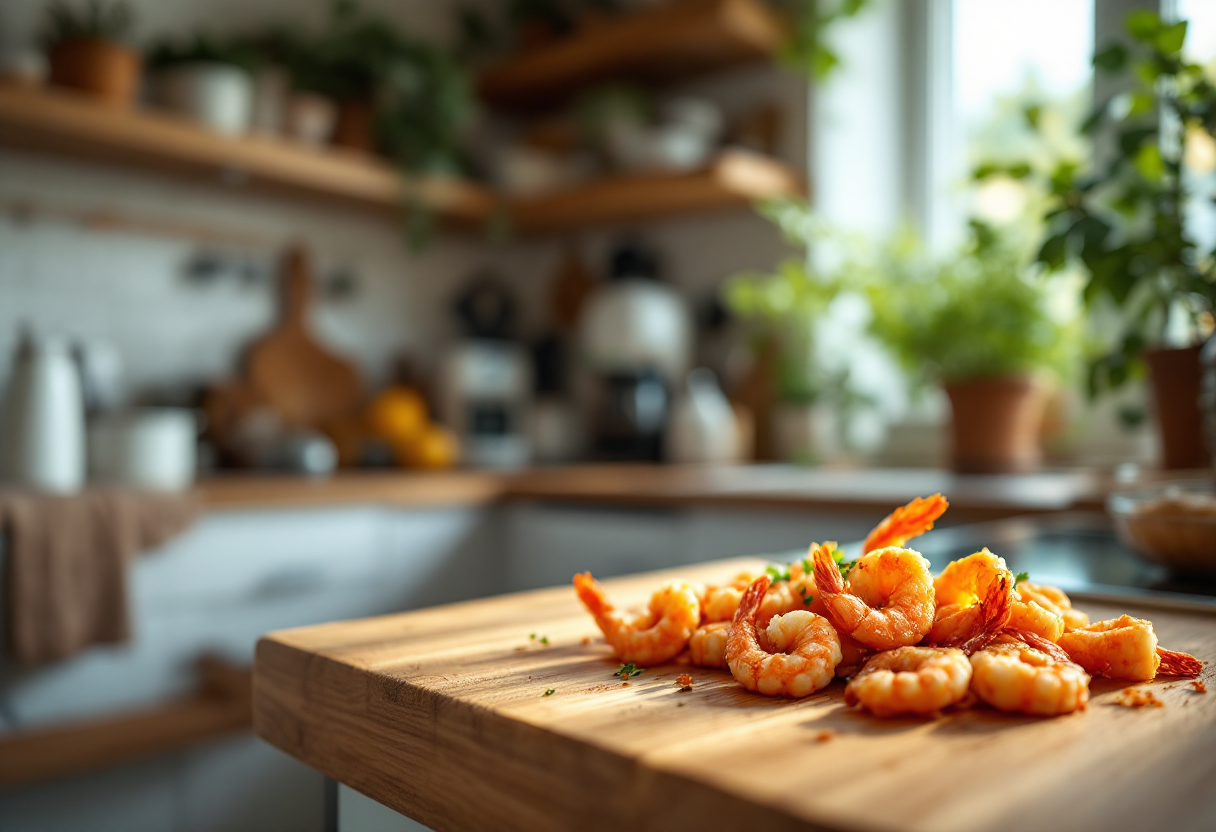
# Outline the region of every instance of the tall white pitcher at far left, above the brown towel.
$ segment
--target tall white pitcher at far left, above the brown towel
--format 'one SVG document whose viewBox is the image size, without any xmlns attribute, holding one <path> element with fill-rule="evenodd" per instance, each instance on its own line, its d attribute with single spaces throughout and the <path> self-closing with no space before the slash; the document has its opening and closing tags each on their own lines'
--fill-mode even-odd
<svg viewBox="0 0 1216 832">
<path fill-rule="evenodd" d="M 66 342 L 22 336 L 0 410 L 0 478 L 71 494 L 84 484 L 84 401 Z"/>
</svg>

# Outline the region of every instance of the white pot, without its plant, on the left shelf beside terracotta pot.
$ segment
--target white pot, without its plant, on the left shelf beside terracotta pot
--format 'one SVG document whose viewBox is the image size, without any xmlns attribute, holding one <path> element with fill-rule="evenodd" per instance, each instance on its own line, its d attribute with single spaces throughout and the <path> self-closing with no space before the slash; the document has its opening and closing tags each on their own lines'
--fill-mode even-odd
<svg viewBox="0 0 1216 832">
<path fill-rule="evenodd" d="M 184 63 L 157 75 L 157 99 L 216 133 L 241 135 L 253 119 L 253 80 L 230 63 Z"/>
</svg>

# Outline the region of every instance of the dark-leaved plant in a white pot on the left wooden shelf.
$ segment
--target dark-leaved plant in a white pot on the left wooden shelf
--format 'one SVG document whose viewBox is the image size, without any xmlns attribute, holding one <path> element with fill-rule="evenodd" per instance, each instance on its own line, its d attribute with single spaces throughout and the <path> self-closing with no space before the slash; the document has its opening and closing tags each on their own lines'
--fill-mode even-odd
<svg viewBox="0 0 1216 832">
<path fill-rule="evenodd" d="M 203 34 L 162 41 L 147 57 L 161 106 L 216 133 L 240 135 L 253 118 L 252 55 L 236 41 Z"/>
</svg>

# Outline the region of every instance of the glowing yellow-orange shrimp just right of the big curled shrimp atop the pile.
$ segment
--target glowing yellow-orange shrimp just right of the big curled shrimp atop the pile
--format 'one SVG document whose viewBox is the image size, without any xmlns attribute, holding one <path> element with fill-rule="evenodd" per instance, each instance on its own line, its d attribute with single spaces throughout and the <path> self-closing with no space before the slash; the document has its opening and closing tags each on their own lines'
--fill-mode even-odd
<svg viewBox="0 0 1216 832">
<path fill-rule="evenodd" d="M 936 611 L 925 639 L 931 645 L 972 642 L 968 653 L 975 652 L 984 636 L 995 636 L 1013 614 L 1013 573 L 987 549 L 948 563 L 933 591 Z"/>
</svg>

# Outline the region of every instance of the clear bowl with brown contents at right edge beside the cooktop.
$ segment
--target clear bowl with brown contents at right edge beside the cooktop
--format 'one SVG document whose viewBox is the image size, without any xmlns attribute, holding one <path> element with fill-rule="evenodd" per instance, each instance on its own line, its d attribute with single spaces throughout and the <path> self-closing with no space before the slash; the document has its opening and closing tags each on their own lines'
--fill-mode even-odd
<svg viewBox="0 0 1216 832">
<path fill-rule="evenodd" d="M 1122 541 L 1145 560 L 1216 573 L 1216 479 L 1127 488 L 1110 495 L 1107 510 Z"/>
</svg>

